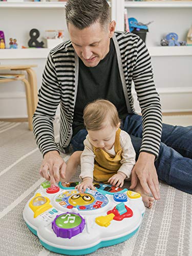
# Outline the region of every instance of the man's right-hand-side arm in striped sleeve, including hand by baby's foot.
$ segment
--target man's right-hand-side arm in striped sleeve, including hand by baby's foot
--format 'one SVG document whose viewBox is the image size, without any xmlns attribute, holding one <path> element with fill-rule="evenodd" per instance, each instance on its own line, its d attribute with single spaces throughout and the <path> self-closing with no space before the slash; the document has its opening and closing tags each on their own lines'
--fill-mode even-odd
<svg viewBox="0 0 192 256">
<path fill-rule="evenodd" d="M 145 192 L 148 193 L 150 188 L 155 199 L 160 199 L 154 160 L 158 157 L 161 141 L 161 104 L 153 80 L 151 58 L 141 39 L 137 44 L 133 81 L 142 113 L 143 139 L 140 155 L 132 172 L 131 188 L 136 186 L 138 177 Z"/>
</svg>

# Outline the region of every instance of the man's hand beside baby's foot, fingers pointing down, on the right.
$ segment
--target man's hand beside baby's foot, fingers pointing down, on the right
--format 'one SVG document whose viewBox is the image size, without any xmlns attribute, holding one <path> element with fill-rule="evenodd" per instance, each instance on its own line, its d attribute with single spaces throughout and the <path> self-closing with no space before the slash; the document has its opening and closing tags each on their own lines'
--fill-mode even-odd
<svg viewBox="0 0 192 256">
<path fill-rule="evenodd" d="M 141 152 L 139 158 L 132 170 L 131 189 L 137 185 L 137 179 L 140 180 L 141 186 L 145 193 L 150 193 L 150 190 L 156 200 L 160 199 L 159 181 L 156 168 L 154 165 L 155 156 Z"/>
</svg>

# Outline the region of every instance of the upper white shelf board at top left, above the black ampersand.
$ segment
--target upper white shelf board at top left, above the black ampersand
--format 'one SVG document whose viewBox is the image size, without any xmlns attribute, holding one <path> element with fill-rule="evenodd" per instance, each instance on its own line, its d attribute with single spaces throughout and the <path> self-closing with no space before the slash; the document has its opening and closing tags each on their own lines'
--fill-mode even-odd
<svg viewBox="0 0 192 256">
<path fill-rule="evenodd" d="M 0 2 L 0 8 L 63 8 L 66 2 Z"/>
</svg>

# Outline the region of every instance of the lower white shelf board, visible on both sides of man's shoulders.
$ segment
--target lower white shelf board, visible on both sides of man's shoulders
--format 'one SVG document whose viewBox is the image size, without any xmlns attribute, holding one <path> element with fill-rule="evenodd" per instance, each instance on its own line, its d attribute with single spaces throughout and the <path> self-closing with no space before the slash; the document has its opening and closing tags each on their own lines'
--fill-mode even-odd
<svg viewBox="0 0 192 256">
<path fill-rule="evenodd" d="M 1 49 L 2 59 L 46 59 L 51 49 Z M 148 47 L 150 55 L 159 56 L 191 56 L 192 46 L 156 46 Z"/>
</svg>

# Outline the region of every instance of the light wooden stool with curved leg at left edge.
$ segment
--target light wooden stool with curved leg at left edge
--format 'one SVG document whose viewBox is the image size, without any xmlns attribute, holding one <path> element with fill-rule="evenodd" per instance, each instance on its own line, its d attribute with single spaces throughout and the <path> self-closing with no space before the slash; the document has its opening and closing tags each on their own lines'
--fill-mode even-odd
<svg viewBox="0 0 192 256">
<path fill-rule="evenodd" d="M 6 83 L 6 82 L 15 82 L 15 81 L 23 81 L 25 84 L 25 91 L 26 91 L 26 100 L 27 100 L 27 114 L 28 114 L 28 122 L 29 122 L 29 130 L 33 130 L 32 126 L 32 117 L 33 117 L 33 110 L 34 106 L 32 103 L 32 93 L 31 93 L 31 86 L 29 81 L 25 78 L 25 75 L 23 74 L 1 74 L 3 76 L 18 76 L 16 78 L 6 78 L 6 79 L 0 79 L 0 83 Z"/>
</svg>

